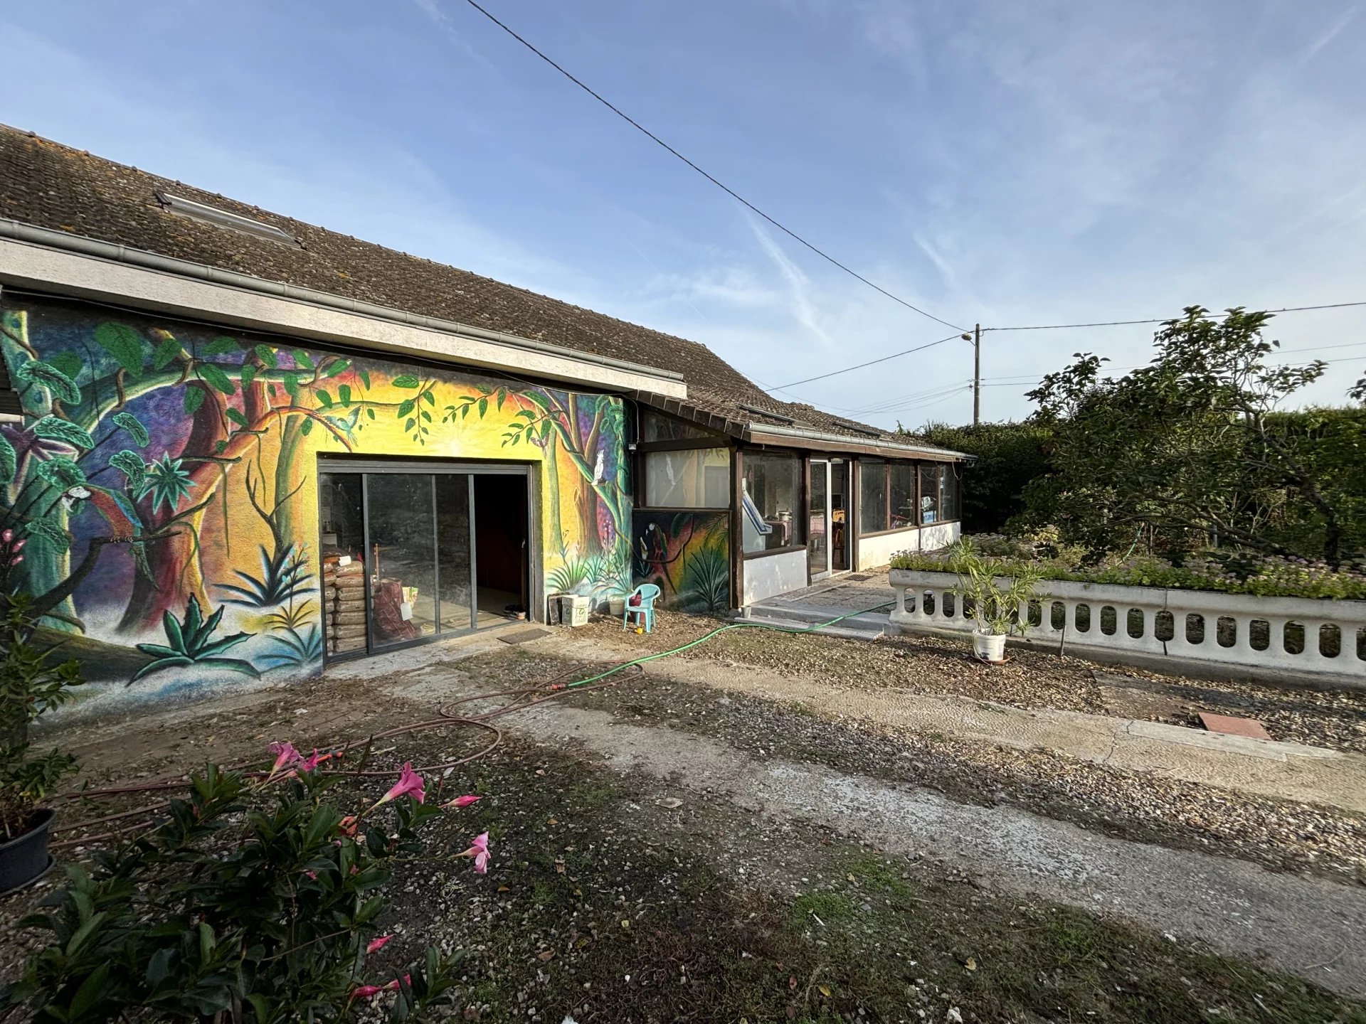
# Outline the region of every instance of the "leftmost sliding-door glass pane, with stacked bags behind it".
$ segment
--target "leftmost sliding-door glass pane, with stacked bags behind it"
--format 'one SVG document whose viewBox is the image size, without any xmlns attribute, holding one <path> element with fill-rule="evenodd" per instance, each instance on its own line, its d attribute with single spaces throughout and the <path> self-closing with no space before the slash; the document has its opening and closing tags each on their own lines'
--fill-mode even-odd
<svg viewBox="0 0 1366 1024">
<path fill-rule="evenodd" d="M 328 654 L 365 650 L 365 519 L 362 477 L 318 477 L 322 554 L 322 634 Z"/>
</svg>

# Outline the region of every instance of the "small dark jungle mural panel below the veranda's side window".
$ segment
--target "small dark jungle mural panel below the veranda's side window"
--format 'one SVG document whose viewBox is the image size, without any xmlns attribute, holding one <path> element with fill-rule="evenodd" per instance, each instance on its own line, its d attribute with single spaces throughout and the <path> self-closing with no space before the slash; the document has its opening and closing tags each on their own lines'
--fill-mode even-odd
<svg viewBox="0 0 1366 1024">
<path fill-rule="evenodd" d="M 654 583 L 682 612 L 731 608 L 728 512 L 637 512 L 631 549 L 637 583 Z"/>
</svg>

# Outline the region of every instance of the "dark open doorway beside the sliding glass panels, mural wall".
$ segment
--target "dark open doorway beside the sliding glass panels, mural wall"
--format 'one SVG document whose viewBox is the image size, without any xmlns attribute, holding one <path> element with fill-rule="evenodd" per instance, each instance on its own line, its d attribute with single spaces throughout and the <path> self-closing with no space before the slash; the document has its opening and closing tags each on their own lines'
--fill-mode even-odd
<svg viewBox="0 0 1366 1024">
<path fill-rule="evenodd" d="M 525 618 L 527 598 L 526 477 L 474 477 L 474 564 L 478 625 Z"/>
</svg>

